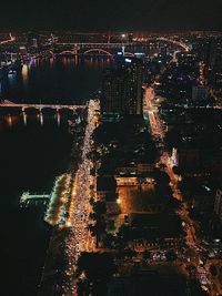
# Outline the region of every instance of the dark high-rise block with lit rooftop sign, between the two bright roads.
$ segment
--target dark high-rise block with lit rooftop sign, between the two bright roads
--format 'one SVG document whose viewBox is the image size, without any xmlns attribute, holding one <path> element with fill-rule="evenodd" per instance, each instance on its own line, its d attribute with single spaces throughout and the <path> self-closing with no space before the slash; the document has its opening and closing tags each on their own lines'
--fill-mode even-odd
<svg viewBox="0 0 222 296">
<path fill-rule="evenodd" d="M 101 111 L 105 115 L 142 115 L 143 64 L 122 58 L 118 67 L 103 72 Z"/>
</svg>

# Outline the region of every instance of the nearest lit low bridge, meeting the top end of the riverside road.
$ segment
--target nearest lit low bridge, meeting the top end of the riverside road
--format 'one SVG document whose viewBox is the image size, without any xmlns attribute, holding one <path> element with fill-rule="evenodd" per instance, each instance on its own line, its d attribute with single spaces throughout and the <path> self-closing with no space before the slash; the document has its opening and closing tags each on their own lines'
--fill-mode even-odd
<svg viewBox="0 0 222 296">
<path fill-rule="evenodd" d="M 8 100 L 4 100 L 2 103 L 0 103 L 0 108 L 21 108 L 22 111 L 24 111 L 26 109 L 38 109 L 38 110 L 42 110 L 42 109 L 56 109 L 56 110 L 60 110 L 60 109 L 69 109 L 69 110 L 78 110 L 78 109 L 85 109 L 87 105 L 62 105 L 62 104 L 22 104 L 22 103 L 13 103 L 10 102 Z"/>
</svg>

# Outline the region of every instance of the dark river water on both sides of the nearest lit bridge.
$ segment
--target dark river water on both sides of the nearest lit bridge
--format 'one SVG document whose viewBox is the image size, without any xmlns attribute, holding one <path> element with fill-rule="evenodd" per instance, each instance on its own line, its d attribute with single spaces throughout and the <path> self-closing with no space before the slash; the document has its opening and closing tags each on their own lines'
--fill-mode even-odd
<svg viewBox="0 0 222 296">
<path fill-rule="evenodd" d="M 1 98 L 13 102 L 81 103 L 100 86 L 100 74 L 109 62 L 38 60 L 22 73 L 1 80 Z M 2 295 L 37 295 L 41 267 L 50 237 L 43 222 L 44 208 L 21 210 L 23 191 L 50 192 L 54 176 L 65 171 L 73 135 L 70 114 L 44 114 L 40 124 L 34 114 L 27 118 L 0 114 L 0 255 Z"/>
</svg>

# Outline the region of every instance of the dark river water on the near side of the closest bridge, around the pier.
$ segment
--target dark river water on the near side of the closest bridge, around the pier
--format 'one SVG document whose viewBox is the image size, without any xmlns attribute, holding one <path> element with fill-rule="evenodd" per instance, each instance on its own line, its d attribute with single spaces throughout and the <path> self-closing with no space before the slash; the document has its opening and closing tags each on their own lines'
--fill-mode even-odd
<svg viewBox="0 0 222 296">
<path fill-rule="evenodd" d="M 50 228 L 43 222 L 46 208 L 22 210 L 19 197 L 28 190 L 50 193 L 54 175 L 65 170 L 72 136 L 65 122 L 58 127 L 50 118 L 43 126 L 34 118 L 26 127 L 18 116 L 12 121 L 11 127 L 8 118 L 0 121 L 1 266 L 6 295 L 36 295 Z"/>
</svg>

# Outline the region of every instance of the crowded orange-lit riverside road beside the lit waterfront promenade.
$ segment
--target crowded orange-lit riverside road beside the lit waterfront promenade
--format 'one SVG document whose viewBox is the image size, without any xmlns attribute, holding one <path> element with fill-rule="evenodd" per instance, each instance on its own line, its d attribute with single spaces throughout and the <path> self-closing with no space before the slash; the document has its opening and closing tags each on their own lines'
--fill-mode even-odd
<svg viewBox="0 0 222 296">
<path fill-rule="evenodd" d="M 65 254 L 69 261 L 69 267 L 65 271 L 68 282 L 63 287 L 64 295 L 77 295 L 77 277 L 73 274 L 77 271 L 77 262 L 82 252 L 93 252 L 95 239 L 91 236 L 88 225 L 90 223 L 89 214 L 91 212 L 90 184 L 92 176 L 90 170 L 93 164 L 88 155 L 92 149 L 92 133 L 97 126 L 98 118 L 95 110 L 99 110 L 98 101 L 91 100 L 88 109 L 88 124 L 82 145 L 82 155 L 79 169 L 74 176 L 71 193 L 70 205 L 70 233 L 65 238 Z"/>
</svg>

